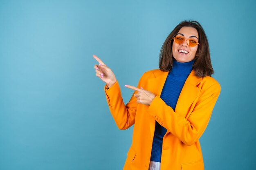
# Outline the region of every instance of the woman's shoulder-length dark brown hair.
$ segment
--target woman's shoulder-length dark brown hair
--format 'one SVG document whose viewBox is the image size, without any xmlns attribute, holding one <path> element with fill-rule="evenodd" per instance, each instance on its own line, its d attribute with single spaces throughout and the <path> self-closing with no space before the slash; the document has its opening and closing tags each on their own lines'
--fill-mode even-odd
<svg viewBox="0 0 256 170">
<path fill-rule="evenodd" d="M 168 35 L 166 38 L 159 56 L 159 68 L 161 71 L 171 71 L 173 68 L 173 37 L 177 35 L 180 29 L 183 26 L 193 27 L 198 31 L 199 35 L 199 44 L 198 50 L 195 56 L 195 62 L 193 64 L 192 69 L 195 71 L 195 75 L 198 77 L 205 77 L 207 75 L 211 76 L 213 74 L 213 68 L 211 66 L 211 57 L 209 51 L 209 44 L 207 37 L 205 35 L 204 29 L 201 24 L 197 21 L 189 20 L 182 21 L 178 24 L 175 29 Z"/>
</svg>

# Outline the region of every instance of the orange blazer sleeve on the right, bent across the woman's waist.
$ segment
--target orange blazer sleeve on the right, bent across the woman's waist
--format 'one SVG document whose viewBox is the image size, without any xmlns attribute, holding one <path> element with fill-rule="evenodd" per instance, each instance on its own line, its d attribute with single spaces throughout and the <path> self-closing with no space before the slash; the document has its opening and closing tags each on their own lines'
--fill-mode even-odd
<svg viewBox="0 0 256 170">
<path fill-rule="evenodd" d="M 186 118 L 181 116 L 186 114 L 175 113 L 159 96 L 150 104 L 148 113 L 180 141 L 190 146 L 198 141 L 206 129 L 219 94 L 218 83 L 202 89 L 195 107 Z"/>
</svg>

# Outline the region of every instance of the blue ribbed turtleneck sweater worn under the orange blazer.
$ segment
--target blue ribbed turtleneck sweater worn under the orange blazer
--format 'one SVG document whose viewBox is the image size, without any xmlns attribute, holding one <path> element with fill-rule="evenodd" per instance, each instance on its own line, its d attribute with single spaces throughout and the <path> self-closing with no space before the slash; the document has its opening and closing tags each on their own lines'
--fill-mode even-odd
<svg viewBox="0 0 256 170">
<path fill-rule="evenodd" d="M 168 106 L 171 106 L 173 110 L 175 110 L 184 83 L 192 71 L 193 63 L 194 60 L 185 63 L 174 61 L 173 69 L 166 78 L 160 98 Z M 166 128 L 158 124 L 157 121 L 155 122 L 155 134 L 150 161 L 161 162 L 163 137 L 166 131 Z"/>
</svg>

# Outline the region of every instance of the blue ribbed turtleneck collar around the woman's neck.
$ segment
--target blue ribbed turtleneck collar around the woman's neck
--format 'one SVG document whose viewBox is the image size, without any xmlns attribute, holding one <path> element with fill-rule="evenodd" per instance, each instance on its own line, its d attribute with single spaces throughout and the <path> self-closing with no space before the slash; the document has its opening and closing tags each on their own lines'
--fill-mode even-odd
<svg viewBox="0 0 256 170">
<path fill-rule="evenodd" d="M 173 69 L 170 73 L 175 75 L 189 75 L 192 71 L 192 66 L 195 60 L 191 60 L 190 62 L 177 62 L 173 61 Z"/>
</svg>

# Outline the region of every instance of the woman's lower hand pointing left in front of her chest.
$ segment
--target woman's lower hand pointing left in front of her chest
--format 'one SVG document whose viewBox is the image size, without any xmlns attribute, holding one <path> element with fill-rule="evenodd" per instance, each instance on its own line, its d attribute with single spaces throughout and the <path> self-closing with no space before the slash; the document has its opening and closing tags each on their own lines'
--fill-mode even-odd
<svg viewBox="0 0 256 170">
<path fill-rule="evenodd" d="M 137 91 L 133 96 L 137 97 L 137 103 L 150 105 L 153 99 L 155 99 L 155 95 L 150 91 L 144 90 L 142 87 L 137 88 L 130 85 L 125 85 L 127 88 Z"/>
</svg>

